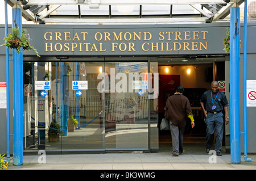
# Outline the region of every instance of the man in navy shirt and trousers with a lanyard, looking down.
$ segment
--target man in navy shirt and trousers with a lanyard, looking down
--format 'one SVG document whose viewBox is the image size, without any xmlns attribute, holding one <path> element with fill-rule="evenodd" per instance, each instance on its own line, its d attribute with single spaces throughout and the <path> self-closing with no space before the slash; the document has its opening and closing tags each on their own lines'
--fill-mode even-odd
<svg viewBox="0 0 256 181">
<path fill-rule="evenodd" d="M 224 115 L 222 111 L 225 111 L 225 124 L 228 124 L 229 103 L 224 92 L 218 90 L 217 81 L 213 81 L 210 87 L 211 90 L 204 92 L 200 99 L 200 104 L 207 124 L 206 151 L 208 153 L 210 147 L 213 145 L 212 135 L 215 132 L 215 150 L 216 154 L 221 156 L 222 137 L 224 131 Z"/>
</svg>

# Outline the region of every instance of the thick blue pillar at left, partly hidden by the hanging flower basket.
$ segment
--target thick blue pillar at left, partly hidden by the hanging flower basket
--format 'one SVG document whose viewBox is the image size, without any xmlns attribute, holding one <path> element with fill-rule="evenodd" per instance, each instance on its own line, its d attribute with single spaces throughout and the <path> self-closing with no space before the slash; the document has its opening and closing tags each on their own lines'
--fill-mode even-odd
<svg viewBox="0 0 256 181">
<path fill-rule="evenodd" d="M 22 11 L 13 8 L 13 27 L 15 22 L 22 35 Z M 23 53 L 20 54 L 13 49 L 13 100 L 14 100 L 14 117 L 13 117 L 13 164 L 23 164 Z"/>
</svg>

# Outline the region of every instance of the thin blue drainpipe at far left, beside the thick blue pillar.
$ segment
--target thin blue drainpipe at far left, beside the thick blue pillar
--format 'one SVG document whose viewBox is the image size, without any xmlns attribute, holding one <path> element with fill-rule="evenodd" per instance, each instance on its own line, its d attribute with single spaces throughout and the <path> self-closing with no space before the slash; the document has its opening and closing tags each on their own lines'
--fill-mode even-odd
<svg viewBox="0 0 256 181">
<path fill-rule="evenodd" d="M 5 0 L 5 36 L 8 35 L 7 0 Z M 10 87 L 9 87 L 9 49 L 5 47 L 6 60 L 6 158 L 10 162 Z"/>
</svg>

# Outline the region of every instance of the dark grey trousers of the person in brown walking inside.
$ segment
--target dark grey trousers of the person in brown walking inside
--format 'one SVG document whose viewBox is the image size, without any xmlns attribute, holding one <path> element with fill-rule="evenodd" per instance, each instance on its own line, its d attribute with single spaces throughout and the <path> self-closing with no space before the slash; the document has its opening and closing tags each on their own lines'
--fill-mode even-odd
<svg viewBox="0 0 256 181">
<path fill-rule="evenodd" d="M 185 127 L 179 128 L 170 121 L 170 131 L 172 134 L 172 154 L 179 155 L 183 152 L 183 133 Z"/>
</svg>

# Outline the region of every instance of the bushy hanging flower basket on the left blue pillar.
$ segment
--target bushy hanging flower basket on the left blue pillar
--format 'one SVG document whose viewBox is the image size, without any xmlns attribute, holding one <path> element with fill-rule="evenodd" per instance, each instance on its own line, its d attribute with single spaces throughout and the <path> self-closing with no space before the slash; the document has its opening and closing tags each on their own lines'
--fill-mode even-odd
<svg viewBox="0 0 256 181">
<path fill-rule="evenodd" d="M 4 37 L 4 40 L 5 43 L 1 46 L 6 46 L 9 49 L 16 49 L 18 54 L 20 54 L 20 48 L 23 50 L 33 50 L 35 54 L 40 57 L 38 51 L 30 45 L 30 34 L 26 29 L 22 29 L 22 35 L 19 36 L 19 28 L 13 27 L 11 32 Z"/>
</svg>

